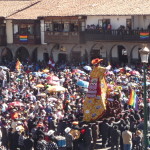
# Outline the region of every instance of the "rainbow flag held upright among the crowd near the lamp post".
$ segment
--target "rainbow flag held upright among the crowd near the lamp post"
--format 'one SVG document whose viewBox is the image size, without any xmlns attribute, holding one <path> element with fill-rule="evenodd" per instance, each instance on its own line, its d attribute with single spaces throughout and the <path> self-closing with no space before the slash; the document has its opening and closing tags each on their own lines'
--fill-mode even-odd
<svg viewBox="0 0 150 150">
<path fill-rule="evenodd" d="M 133 106 L 135 110 L 138 110 L 138 100 L 139 98 L 136 95 L 136 92 L 133 89 L 131 89 L 128 105 Z"/>
</svg>

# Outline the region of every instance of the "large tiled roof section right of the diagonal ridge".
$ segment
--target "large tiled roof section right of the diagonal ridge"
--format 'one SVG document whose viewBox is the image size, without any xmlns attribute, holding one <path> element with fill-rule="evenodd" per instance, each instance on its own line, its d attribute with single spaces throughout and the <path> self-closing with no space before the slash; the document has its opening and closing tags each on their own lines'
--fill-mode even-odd
<svg viewBox="0 0 150 150">
<path fill-rule="evenodd" d="M 41 0 L 7 19 L 36 19 L 39 16 L 150 15 L 149 6 L 150 0 Z M 7 9 L 11 11 L 10 8 Z M 0 13 L 0 16 L 3 15 Z"/>
</svg>

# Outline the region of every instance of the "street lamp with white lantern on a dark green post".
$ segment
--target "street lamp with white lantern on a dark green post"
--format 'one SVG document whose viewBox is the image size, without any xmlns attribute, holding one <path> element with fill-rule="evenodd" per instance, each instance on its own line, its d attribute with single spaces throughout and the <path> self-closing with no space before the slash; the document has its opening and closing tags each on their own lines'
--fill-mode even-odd
<svg viewBox="0 0 150 150">
<path fill-rule="evenodd" d="M 148 63 L 148 57 L 150 50 L 148 47 L 144 47 L 139 50 L 141 56 L 141 62 L 143 63 L 144 69 L 144 150 L 148 147 L 148 131 L 147 131 L 147 100 L 146 100 L 146 63 Z"/>
</svg>

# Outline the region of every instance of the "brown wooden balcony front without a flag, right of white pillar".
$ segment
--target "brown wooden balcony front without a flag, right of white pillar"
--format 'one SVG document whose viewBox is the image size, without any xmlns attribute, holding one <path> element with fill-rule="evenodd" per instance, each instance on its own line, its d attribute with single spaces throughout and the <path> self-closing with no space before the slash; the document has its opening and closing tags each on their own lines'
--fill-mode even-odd
<svg viewBox="0 0 150 150">
<path fill-rule="evenodd" d="M 80 32 L 45 31 L 45 43 L 82 43 Z"/>
</svg>

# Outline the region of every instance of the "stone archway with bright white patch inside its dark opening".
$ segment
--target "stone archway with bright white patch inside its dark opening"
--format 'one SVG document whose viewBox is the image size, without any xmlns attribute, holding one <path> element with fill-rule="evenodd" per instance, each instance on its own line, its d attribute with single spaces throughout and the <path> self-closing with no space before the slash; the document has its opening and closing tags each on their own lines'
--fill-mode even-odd
<svg viewBox="0 0 150 150">
<path fill-rule="evenodd" d="M 110 50 L 110 61 L 113 64 L 125 65 L 128 63 L 127 49 L 122 44 L 115 44 Z"/>
</svg>

